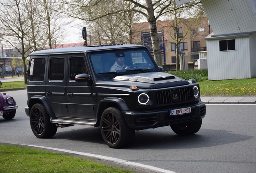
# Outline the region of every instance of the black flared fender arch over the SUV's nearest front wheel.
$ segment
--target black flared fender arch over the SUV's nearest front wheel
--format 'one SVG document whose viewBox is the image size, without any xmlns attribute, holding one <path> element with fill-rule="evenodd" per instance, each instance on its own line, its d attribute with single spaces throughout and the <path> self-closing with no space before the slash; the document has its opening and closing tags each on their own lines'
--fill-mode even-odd
<svg viewBox="0 0 256 173">
<path fill-rule="evenodd" d="M 100 126 L 100 119 L 102 113 L 108 107 L 116 107 L 119 108 L 121 112 L 130 110 L 123 99 L 120 98 L 105 98 L 99 102 L 98 109 L 97 109 L 97 123 L 95 127 Z"/>
</svg>

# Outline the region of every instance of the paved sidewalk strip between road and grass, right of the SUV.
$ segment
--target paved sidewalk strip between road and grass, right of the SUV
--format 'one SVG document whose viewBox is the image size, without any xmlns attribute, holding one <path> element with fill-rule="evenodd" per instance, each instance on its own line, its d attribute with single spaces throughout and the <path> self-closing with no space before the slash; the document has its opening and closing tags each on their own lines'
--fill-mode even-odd
<svg viewBox="0 0 256 173">
<path fill-rule="evenodd" d="M 201 97 L 205 104 L 256 104 L 256 97 Z"/>
</svg>

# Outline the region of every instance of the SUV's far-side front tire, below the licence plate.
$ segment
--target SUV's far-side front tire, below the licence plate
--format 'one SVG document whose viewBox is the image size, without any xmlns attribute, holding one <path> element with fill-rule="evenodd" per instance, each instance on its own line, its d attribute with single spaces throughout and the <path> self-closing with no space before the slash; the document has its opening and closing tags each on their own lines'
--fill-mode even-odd
<svg viewBox="0 0 256 173">
<path fill-rule="evenodd" d="M 178 125 L 171 125 L 171 129 L 177 135 L 193 135 L 199 131 L 202 125 L 202 119 L 198 121 L 193 121 L 190 123 L 178 124 Z"/>
</svg>

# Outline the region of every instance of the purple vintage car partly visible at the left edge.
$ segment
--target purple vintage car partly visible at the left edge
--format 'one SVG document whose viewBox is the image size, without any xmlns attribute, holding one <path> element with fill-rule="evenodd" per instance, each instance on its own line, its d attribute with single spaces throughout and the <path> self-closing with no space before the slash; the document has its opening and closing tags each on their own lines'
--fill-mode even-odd
<svg viewBox="0 0 256 173">
<path fill-rule="evenodd" d="M 17 108 L 12 96 L 0 93 L 0 116 L 3 116 L 4 119 L 13 119 Z"/>
</svg>

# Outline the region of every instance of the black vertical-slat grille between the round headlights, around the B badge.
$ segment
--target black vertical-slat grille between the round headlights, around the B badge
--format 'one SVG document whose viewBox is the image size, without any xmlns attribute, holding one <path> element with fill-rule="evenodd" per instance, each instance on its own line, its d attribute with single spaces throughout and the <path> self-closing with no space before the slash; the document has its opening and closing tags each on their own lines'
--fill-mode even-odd
<svg viewBox="0 0 256 173">
<path fill-rule="evenodd" d="M 179 94 L 179 99 L 177 101 L 171 100 L 171 92 L 177 91 Z M 192 89 L 191 88 L 182 88 L 182 89 L 175 89 L 175 90 L 167 90 L 167 91 L 158 91 L 155 94 L 156 98 L 156 104 L 162 105 L 162 104 L 169 104 L 169 103 L 178 103 L 183 101 L 188 101 L 193 99 L 192 95 Z"/>
</svg>

